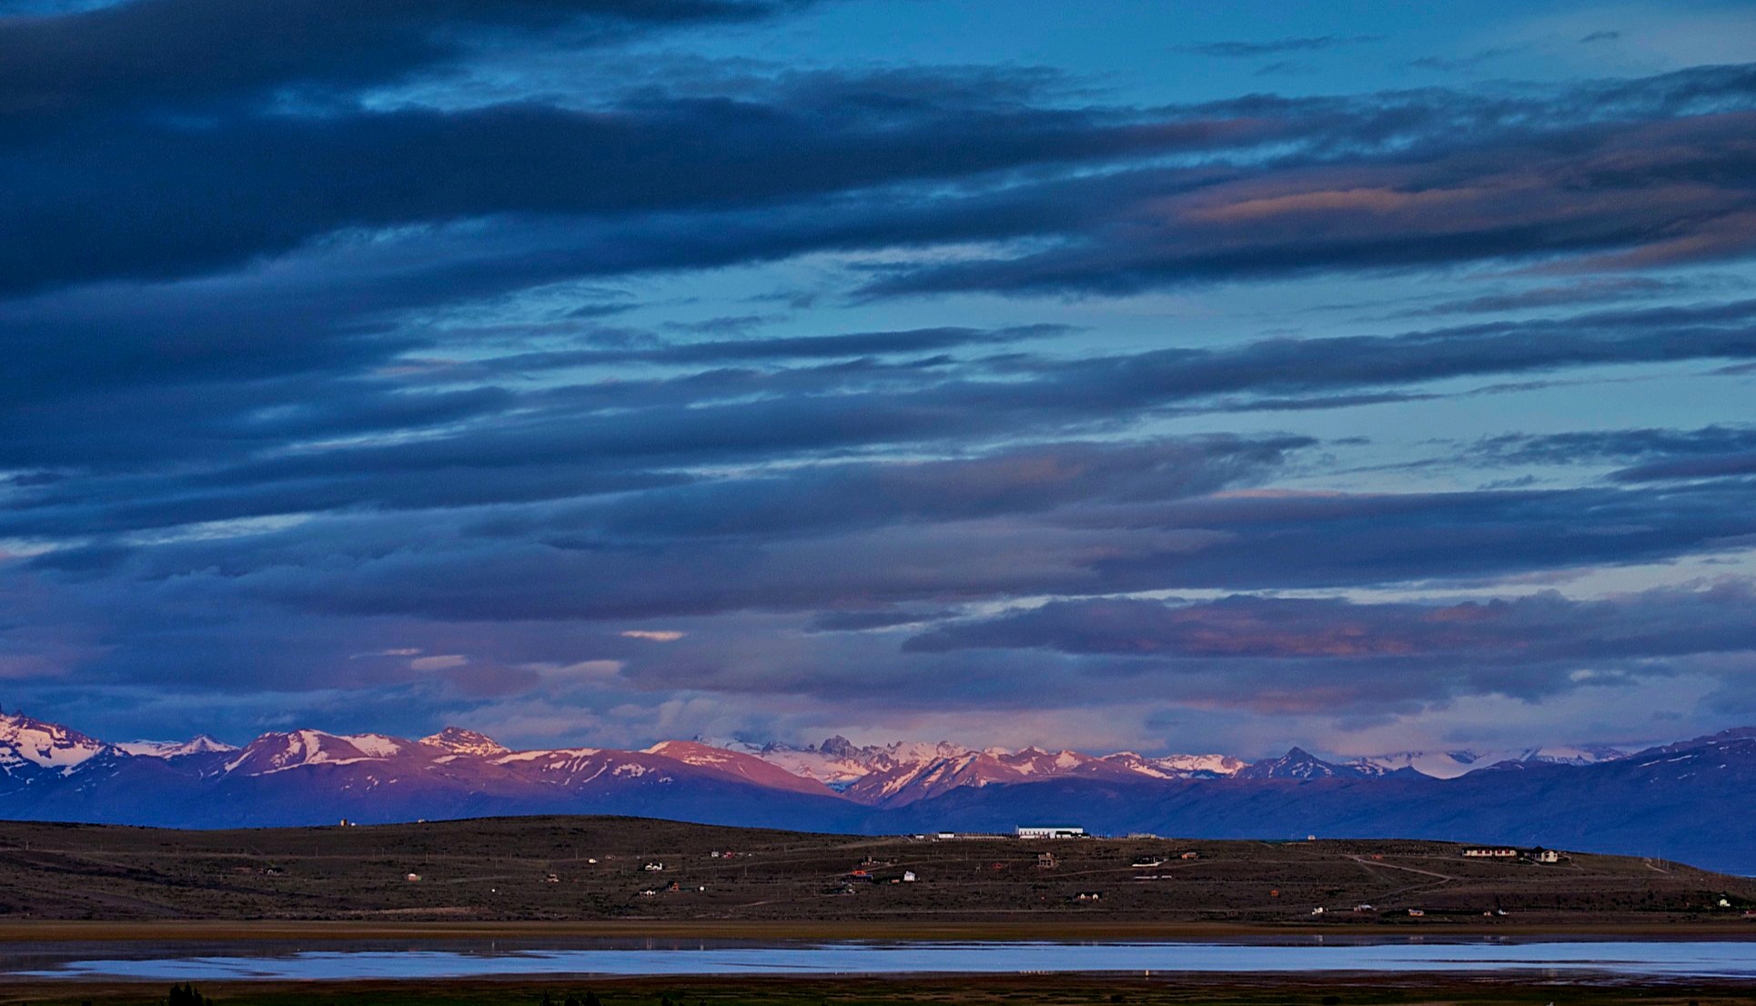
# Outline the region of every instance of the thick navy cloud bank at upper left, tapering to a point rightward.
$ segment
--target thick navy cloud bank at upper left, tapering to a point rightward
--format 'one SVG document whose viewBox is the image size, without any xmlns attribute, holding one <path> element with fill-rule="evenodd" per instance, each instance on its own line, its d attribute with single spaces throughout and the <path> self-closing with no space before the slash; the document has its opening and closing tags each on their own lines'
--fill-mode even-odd
<svg viewBox="0 0 1756 1006">
<path fill-rule="evenodd" d="M 0 279 L 28 290 L 186 276 L 348 228 L 499 214 L 797 205 L 871 186 L 1227 147 L 1289 128 L 1017 107 L 1011 83 L 992 81 L 843 75 L 738 98 L 636 95 L 592 111 L 509 102 L 91 123 L 0 158 L 0 181 L 32 197 L 9 204 L 0 225 L 33 248 L 0 256 Z M 753 230 L 727 235 L 745 256 L 759 255 Z M 574 267 L 618 269 L 592 263 L 590 237 L 576 237 Z M 694 263 L 687 241 L 673 256 Z"/>
</svg>

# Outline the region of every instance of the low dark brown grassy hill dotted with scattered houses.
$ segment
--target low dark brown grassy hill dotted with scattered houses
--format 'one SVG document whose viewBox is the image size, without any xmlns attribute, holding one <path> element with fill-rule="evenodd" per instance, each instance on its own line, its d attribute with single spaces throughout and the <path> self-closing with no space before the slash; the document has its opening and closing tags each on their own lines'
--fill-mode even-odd
<svg viewBox="0 0 1756 1006">
<path fill-rule="evenodd" d="M 339 938 L 520 927 L 759 938 L 1756 934 L 1744 918 L 1756 908 L 1751 878 L 1638 857 L 1484 862 L 1461 850 L 1391 839 L 934 841 L 604 816 L 212 832 L 0 823 L 0 939 L 313 936 L 316 923 Z M 1356 911 L 1363 904 L 1371 908 Z M 1322 915 L 1312 915 L 1317 906 Z"/>
</svg>

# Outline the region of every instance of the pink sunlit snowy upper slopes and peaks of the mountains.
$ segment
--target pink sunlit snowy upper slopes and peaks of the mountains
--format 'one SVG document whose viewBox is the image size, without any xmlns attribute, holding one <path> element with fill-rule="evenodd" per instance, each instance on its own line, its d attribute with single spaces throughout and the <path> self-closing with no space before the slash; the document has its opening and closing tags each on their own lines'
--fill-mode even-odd
<svg viewBox="0 0 1756 1006">
<path fill-rule="evenodd" d="M 1730 739 L 1747 743 L 1742 734 Z M 1689 744 L 1702 746 L 1703 741 L 1707 739 Z M 1038 746 L 971 750 L 948 741 L 860 746 L 846 737 L 829 737 L 811 746 L 709 744 L 695 739 L 662 741 L 643 751 L 513 751 L 485 734 L 460 727 L 446 727 L 421 741 L 386 734 L 291 730 L 263 734 L 237 750 L 212 737 L 109 744 L 54 723 L 0 715 L 0 792 L 37 794 L 61 780 L 84 785 L 81 780 L 112 778 L 118 772 L 126 778 L 163 780 L 176 787 L 195 785 L 191 780 L 214 785 L 227 778 L 237 785 L 283 780 L 284 785 L 277 783 L 274 792 L 286 794 L 288 808 L 300 801 L 321 802 L 342 792 L 360 799 L 379 794 L 371 801 L 385 808 L 385 820 L 392 820 L 397 813 L 392 808 L 399 806 L 439 806 L 446 813 L 497 806 L 483 801 L 550 801 L 544 806 L 565 806 L 564 801 L 585 799 L 599 801 L 592 806 L 623 806 L 616 801 L 646 806 L 639 801 L 687 801 L 694 799 L 690 794 L 736 792 L 727 790 L 727 785 L 755 787 L 748 792 L 773 792 L 776 799 L 780 794 L 820 799 L 841 794 L 855 804 L 890 811 L 959 788 L 1050 780 L 1140 785 L 1217 778 L 1366 780 L 1393 772 L 1454 778 L 1491 765 L 1594 765 L 1626 757 L 1616 748 L 1554 746 L 1403 751 L 1338 764 L 1292 748 L 1280 758 L 1245 764 L 1227 755 L 1087 755 Z M 148 771 L 149 764 L 162 769 Z M 170 771 L 174 776 L 155 776 L 156 771 Z M 293 776 L 286 774 L 295 771 Z M 311 787 L 309 797 L 302 787 Z M 1027 794 L 1020 792 L 1015 799 L 1027 799 Z M 349 811 L 356 813 L 367 813 L 365 806 Z"/>
</svg>

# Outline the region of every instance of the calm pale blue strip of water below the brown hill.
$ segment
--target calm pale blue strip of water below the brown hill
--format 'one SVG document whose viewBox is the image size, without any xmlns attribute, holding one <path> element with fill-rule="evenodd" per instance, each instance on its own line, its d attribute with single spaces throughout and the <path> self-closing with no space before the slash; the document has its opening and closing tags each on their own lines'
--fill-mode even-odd
<svg viewBox="0 0 1756 1006">
<path fill-rule="evenodd" d="M 18 945 L 0 976 L 156 981 L 485 978 L 543 974 L 999 973 L 1600 973 L 1756 978 L 1756 939 L 1347 939 L 1233 943 Z"/>
</svg>

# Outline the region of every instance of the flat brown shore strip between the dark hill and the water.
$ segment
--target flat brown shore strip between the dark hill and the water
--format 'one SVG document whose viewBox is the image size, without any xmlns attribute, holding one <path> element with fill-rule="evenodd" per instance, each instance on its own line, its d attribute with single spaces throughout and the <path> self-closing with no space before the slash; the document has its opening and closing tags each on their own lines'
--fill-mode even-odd
<svg viewBox="0 0 1756 1006">
<path fill-rule="evenodd" d="M 274 939 L 783 939 L 783 941 L 1205 941 L 1261 938 L 1702 938 L 1756 939 L 1756 922 L 1498 922 L 1489 925 L 1431 922 L 1384 923 L 1233 923 L 1150 920 L 1041 920 L 1041 922 L 771 922 L 771 920 L 625 920 L 625 922 L 365 922 L 365 920 L 0 920 L 7 943 L 255 943 Z"/>
</svg>

